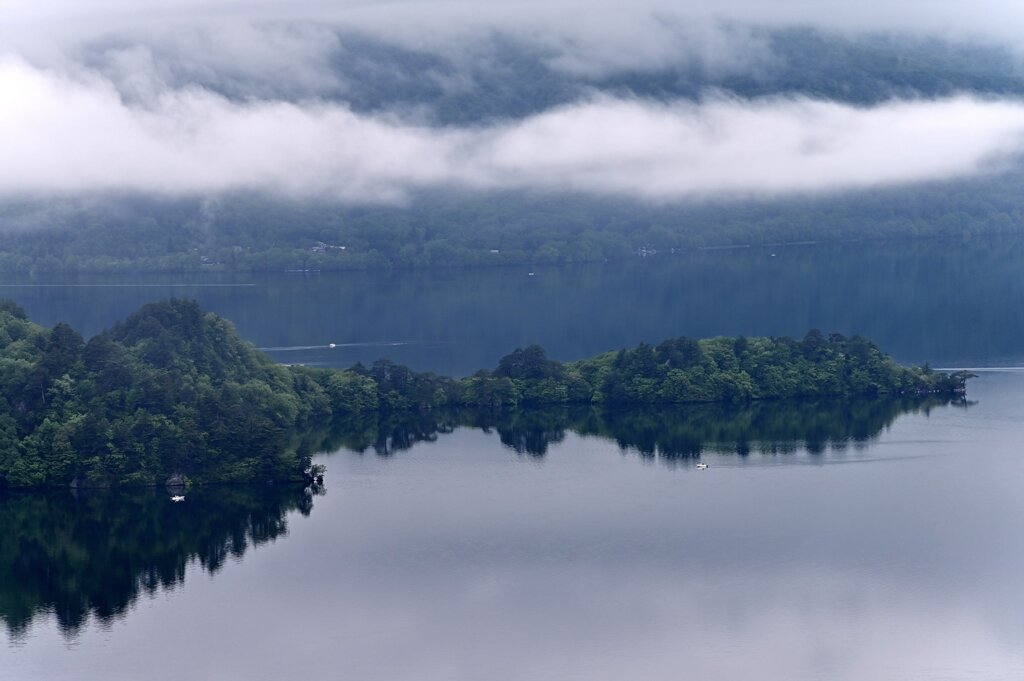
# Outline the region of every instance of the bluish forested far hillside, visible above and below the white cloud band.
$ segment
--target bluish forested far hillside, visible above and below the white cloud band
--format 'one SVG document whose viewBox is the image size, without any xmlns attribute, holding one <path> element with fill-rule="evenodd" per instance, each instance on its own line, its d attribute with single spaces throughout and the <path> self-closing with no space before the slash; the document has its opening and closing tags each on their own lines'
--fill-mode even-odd
<svg viewBox="0 0 1024 681">
<path fill-rule="evenodd" d="M 495 34 L 445 54 L 353 33 L 336 37 L 324 91 L 195 71 L 154 47 L 170 86 L 230 100 L 304 97 L 424 131 L 521 121 L 558 107 L 623 101 L 813 99 L 856 105 L 1024 93 L 1024 61 L 999 46 L 809 28 L 723 29 L 746 46 L 735 63 L 685 56 L 647 69 L 559 66 L 557 50 Z M 682 38 L 680 38 L 682 40 Z M 99 74 L 116 50 L 84 58 Z M 173 67 L 173 68 L 172 68 Z M 113 76 L 112 76 L 113 78 Z M 115 79 L 115 82 L 118 82 Z M 326 87 L 326 86 L 325 86 Z M 299 88 L 299 89 L 296 89 Z M 127 96 L 127 95 L 125 95 Z M 637 252 L 1019 230 L 1024 173 L 1010 154 L 991 174 L 877 190 L 780 196 L 699 194 L 646 202 L 557 183 L 518 190 L 426 186 L 400 201 L 315 191 L 58 191 L 0 198 L 0 271 L 281 271 L 586 262 Z"/>
</svg>

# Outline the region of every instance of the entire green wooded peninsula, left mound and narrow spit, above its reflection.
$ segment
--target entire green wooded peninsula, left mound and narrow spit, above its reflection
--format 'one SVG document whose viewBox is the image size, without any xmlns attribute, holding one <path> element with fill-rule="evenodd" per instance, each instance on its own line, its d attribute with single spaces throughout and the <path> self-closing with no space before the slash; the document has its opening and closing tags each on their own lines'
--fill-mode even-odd
<svg viewBox="0 0 1024 681">
<path fill-rule="evenodd" d="M 460 379 L 386 359 L 314 369 L 275 364 L 191 301 L 145 305 L 88 342 L 0 301 L 0 487 L 308 479 L 309 433 L 360 413 L 957 395 L 970 376 L 817 331 L 676 338 L 565 364 L 530 346 Z"/>
</svg>

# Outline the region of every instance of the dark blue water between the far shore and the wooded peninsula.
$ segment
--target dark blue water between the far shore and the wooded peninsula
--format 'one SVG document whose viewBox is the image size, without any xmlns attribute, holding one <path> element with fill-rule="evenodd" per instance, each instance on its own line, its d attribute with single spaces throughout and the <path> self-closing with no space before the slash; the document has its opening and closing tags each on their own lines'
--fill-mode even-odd
<svg viewBox="0 0 1024 681">
<path fill-rule="evenodd" d="M 1024 242 L 709 251 L 561 268 L 208 276 L 0 276 L 0 296 L 87 336 L 178 296 L 286 363 L 388 357 L 467 375 L 539 343 L 573 359 L 681 335 L 860 333 L 897 359 L 1024 359 Z M 339 347 L 329 349 L 329 343 Z"/>
</svg>

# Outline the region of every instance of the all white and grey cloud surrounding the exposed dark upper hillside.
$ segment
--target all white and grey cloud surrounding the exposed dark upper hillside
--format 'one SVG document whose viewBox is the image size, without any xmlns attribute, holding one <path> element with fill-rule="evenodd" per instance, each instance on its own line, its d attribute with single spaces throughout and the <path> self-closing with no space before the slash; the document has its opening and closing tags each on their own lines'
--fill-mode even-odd
<svg viewBox="0 0 1024 681">
<path fill-rule="evenodd" d="M 714 9 L 709 10 L 708 6 Z M 326 60 L 337 28 L 427 50 L 493 31 L 546 46 L 569 71 L 697 58 L 744 69 L 763 45 L 734 25 L 898 31 L 1016 45 L 1024 5 L 910 0 L 243 2 L 0 0 L 0 190 L 209 194 L 259 188 L 347 201 L 419 188 L 530 188 L 671 201 L 968 176 L 1021 151 L 1024 104 L 957 96 L 854 108 L 797 97 L 693 102 L 593 95 L 488 126 L 359 115 Z M 105 41 L 102 69 L 83 46 Z M 159 56 L 158 56 L 159 55 Z M 168 56 L 170 55 L 170 56 Z M 300 100 L 228 101 L 169 82 L 231 72 L 301 84 Z"/>
</svg>

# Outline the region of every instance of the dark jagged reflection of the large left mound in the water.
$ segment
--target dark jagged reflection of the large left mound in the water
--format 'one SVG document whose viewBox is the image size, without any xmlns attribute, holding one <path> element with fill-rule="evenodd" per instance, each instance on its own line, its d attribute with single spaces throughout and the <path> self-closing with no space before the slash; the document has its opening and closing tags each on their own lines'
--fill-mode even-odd
<svg viewBox="0 0 1024 681">
<path fill-rule="evenodd" d="M 183 583 L 193 561 L 217 572 L 311 509 L 309 490 L 287 485 L 193 490 L 180 504 L 160 490 L 0 494 L 0 620 L 16 639 L 52 613 L 74 636 Z"/>
</svg>

